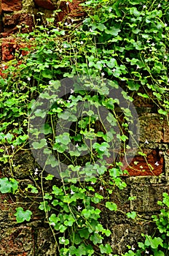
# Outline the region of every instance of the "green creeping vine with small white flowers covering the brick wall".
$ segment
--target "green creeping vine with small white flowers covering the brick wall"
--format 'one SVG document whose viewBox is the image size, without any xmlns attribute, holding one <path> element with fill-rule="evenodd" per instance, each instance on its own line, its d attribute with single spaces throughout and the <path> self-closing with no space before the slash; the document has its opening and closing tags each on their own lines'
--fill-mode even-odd
<svg viewBox="0 0 169 256">
<path fill-rule="evenodd" d="M 76 106 L 80 101 L 95 105 L 96 108 L 103 105 L 111 110 L 106 121 L 114 127 L 119 121 L 114 111 L 118 99 L 112 101 L 104 97 L 109 91 L 103 83 L 104 78 L 107 78 L 111 81 L 112 88 L 122 86 L 124 99 L 132 102 L 135 95 L 151 99 L 157 105 L 158 113 L 168 118 L 169 7 L 167 0 L 91 0 L 85 1 L 82 7 L 87 12 L 87 17 L 81 24 L 72 21 L 55 26 L 54 13 L 53 18 L 48 18 L 43 26 L 35 26 L 33 32 L 17 35 L 20 42 L 27 42 L 32 48 L 25 48 L 29 51 L 27 56 L 20 56 L 20 52 L 16 52 L 15 60 L 9 61 L 7 69 L 4 64 L 1 66 L 4 74 L 0 79 L 0 161 L 9 162 L 12 174 L 15 170 L 12 157 L 20 148 L 28 147 L 28 118 L 35 108 L 36 97 L 40 95 L 42 100 L 49 99 L 52 102 L 53 95 L 47 91 L 44 93 L 44 89 L 50 89 L 52 85 L 59 90 L 60 79 L 73 78 L 75 75 L 88 75 L 91 80 L 97 80 L 98 87 L 85 81 L 86 91 L 87 86 L 96 86 L 98 94 L 94 97 L 82 91 L 78 91 L 78 95 L 72 91 L 68 99 L 60 98 L 53 102 L 47 113 L 47 123 L 40 131 L 46 138 L 32 144 L 34 149 L 44 148 L 46 154 L 51 148 L 56 155 L 64 155 L 69 149 L 69 143 L 74 143 L 74 150 L 69 150 L 68 155 L 71 161 L 63 173 L 60 185 L 53 185 L 46 192 L 43 182 L 52 182 L 53 176 L 49 174 L 44 178 L 42 170 L 36 178 L 37 170 L 35 184 L 29 184 L 25 192 L 37 195 L 42 192 L 43 199 L 39 209 L 46 214 L 58 244 L 59 255 L 111 255 L 110 244 L 104 242 L 111 231 L 101 224 L 101 211 L 103 208 L 118 211 L 116 203 L 111 201 L 111 194 L 115 187 L 126 187 L 120 178 L 123 173 L 120 168 L 122 164 L 117 162 L 117 165 L 113 165 L 107 178 L 108 165 L 103 159 L 103 156 L 109 157 L 109 142 L 114 138 L 115 131 L 112 128 L 106 134 L 95 132 L 93 124 L 97 118 L 93 111 L 87 110 L 87 105 L 83 112 L 87 117 L 77 120 Z M 71 108 L 73 114 L 70 115 L 66 108 Z M 121 129 L 116 139 L 126 146 L 127 132 L 130 132 L 127 124 L 132 116 L 129 108 L 123 111 L 125 121 L 119 125 L 119 129 L 123 127 L 124 130 Z M 36 108 L 35 117 L 43 119 L 45 115 L 40 108 Z M 55 136 L 54 118 L 75 122 L 78 132 L 73 131 L 72 135 L 64 132 Z M 33 132 L 37 138 L 39 131 Z M 92 141 L 93 136 L 103 138 L 104 141 L 96 142 L 93 149 L 90 148 L 90 159 L 85 162 L 82 170 L 87 178 L 84 181 L 70 178 L 70 173 L 81 170 L 77 158 L 87 149 L 83 138 Z M 93 164 L 95 155 L 99 165 Z M 55 167 L 56 161 L 52 162 L 50 159 L 50 165 Z M 39 176 L 41 188 L 37 186 Z M 2 193 L 14 193 L 16 190 L 15 179 L 0 179 Z M 161 206 L 168 206 L 167 202 L 168 197 L 164 195 Z M 31 214 L 30 210 L 24 211 L 22 207 L 18 207 L 15 216 L 17 222 L 24 222 L 31 219 Z M 136 213 L 127 213 L 127 217 L 134 219 Z M 160 216 L 153 218 L 160 237 L 146 235 L 145 242 L 138 243 L 140 249 L 137 252 L 130 250 L 125 256 L 141 256 L 148 250 L 155 256 L 167 255 L 168 211 L 162 209 Z"/>
</svg>

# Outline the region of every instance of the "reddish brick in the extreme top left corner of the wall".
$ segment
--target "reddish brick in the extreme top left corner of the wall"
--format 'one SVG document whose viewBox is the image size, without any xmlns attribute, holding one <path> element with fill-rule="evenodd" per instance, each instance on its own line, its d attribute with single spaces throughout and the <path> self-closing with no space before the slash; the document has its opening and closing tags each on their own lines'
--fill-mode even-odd
<svg viewBox="0 0 169 256">
<path fill-rule="evenodd" d="M 22 9 L 21 0 L 2 0 L 1 10 L 4 12 L 14 12 Z"/>
</svg>

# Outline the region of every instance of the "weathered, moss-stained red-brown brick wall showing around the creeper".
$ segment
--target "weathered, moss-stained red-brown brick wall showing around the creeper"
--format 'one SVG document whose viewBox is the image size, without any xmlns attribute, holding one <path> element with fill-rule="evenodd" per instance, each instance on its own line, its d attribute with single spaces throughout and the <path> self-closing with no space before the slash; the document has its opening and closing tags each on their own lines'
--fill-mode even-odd
<svg viewBox="0 0 169 256">
<path fill-rule="evenodd" d="M 58 20 L 64 18 L 83 18 L 84 12 L 78 6 L 79 1 L 66 4 L 62 1 L 59 6 L 62 10 Z M 17 48 L 16 39 L 12 34 L 19 31 L 31 31 L 36 25 L 38 12 L 44 12 L 50 17 L 53 10 L 58 9 L 55 0 L 0 0 L 0 33 L 1 33 L 1 61 L 13 59 L 12 50 Z M 27 25 L 27 28 L 25 26 Z M 123 177 L 127 188 L 122 191 L 116 189 L 112 201 L 117 203 L 119 210 L 136 211 L 140 219 L 127 219 L 125 214 L 116 214 L 105 210 L 102 214 L 103 225 L 112 231 L 111 245 L 115 253 L 122 253 L 126 245 L 136 246 L 141 239 L 141 233 L 153 233 L 151 216 L 159 211 L 157 200 L 162 200 L 162 192 L 169 190 L 169 127 L 165 118 L 149 99 L 135 98 L 135 108 L 138 110 L 141 125 L 140 145 L 147 154 L 149 164 L 154 167 L 151 172 L 144 157 L 135 156 L 131 165 L 135 171 L 128 169 L 130 176 Z M 15 176 L 20 181 L 20 186 L 25 187 L 31 181 L 30 173 L 34 170 L 35 159 L 31 151 L 18 152 L 15 155 Z M 135 164 L 138 163 L 138 164 Z M 144 172 L 142 171 L 144 170 Z M 0 176 L 9 173 L 9 165 L 0 165 Z M 57 182 L 57 181 L 55 181 Z M 129 196 L 136 196 L 136 200 L 128 201 Z M 37 210 L 33 203 L 31 211 L 34 217 L 31 222 L 17 224 L 14 217 L 15 202 L 26 206 L 28 198 L 24 195 L 0 195 L 0 256 L 41 256 L 58 255 L 55 241 L 42 211 Z M 144 220 L 143 220 L 144 219 Z"/>
</svg>

